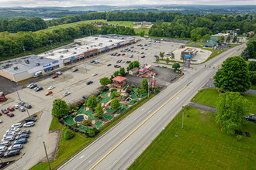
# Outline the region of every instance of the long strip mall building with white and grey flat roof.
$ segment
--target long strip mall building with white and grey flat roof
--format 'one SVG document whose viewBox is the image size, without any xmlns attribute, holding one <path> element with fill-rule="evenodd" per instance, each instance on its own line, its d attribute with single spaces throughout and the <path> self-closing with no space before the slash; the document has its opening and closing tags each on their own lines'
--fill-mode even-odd
<svg viewBox="0 0 256 170">
<path fill-rule="evenodd" d="M 137 42 L 133 36 L 99 35 L 75 39 L 74 43 L 40 55 L 23 56 L 0 63 L 0 76 L 19 82 L 34 73 L 50 73 L 71 63 Z"/>
</svg>

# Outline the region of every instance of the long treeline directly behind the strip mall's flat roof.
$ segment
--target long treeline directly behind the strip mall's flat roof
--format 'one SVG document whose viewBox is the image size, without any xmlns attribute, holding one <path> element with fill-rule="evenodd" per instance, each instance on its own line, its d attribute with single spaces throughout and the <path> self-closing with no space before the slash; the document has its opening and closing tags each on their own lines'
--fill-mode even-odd
<svg viewBox="0 0 256 170">
<path fill-rule="evenodd" d="M 108 26 L 99 29 L 92 24 L 54 29 L 52 32 L 18 32 L 15 35 L 9 32 L 0 33 L 0 57 L 14 56 L 23 50 L 33 50 L 57 42 L 64 42 L 83 36 L 95 34 L 123 34 L 134 35 L 134 29 L 124 26 Z"/>
</svg>

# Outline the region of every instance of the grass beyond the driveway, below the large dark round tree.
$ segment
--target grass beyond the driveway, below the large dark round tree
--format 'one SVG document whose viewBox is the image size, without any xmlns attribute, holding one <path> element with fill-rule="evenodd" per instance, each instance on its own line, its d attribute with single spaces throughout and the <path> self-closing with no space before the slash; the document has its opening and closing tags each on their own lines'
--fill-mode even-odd
<svg viewBox="0 0 256 170">
<path fill-rule="evenodd" d="M 192 102 L 216 107 L 218 103 L 219 92 L 217 89 L 202 89 L 192 98 Z M 249 112 L 256 114 L 256 95 L 251 93 L 241 93 L 250 102 Z"/>
</svg>

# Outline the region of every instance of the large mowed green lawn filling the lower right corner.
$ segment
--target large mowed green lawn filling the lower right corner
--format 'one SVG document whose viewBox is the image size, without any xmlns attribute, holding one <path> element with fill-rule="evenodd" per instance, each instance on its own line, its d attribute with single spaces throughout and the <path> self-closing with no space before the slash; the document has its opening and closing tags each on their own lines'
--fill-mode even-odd
<svg viewBox="0 0 256 170">
<path fill-rule="evenodd" d="M 245 121 L 242 131 L 251 137 L 236 141 L 220 131 L 213 113 L 184 110 L 184 129 L 180 112 L 129 169 L 255 169 L 256 124 Z"/>
</svg>

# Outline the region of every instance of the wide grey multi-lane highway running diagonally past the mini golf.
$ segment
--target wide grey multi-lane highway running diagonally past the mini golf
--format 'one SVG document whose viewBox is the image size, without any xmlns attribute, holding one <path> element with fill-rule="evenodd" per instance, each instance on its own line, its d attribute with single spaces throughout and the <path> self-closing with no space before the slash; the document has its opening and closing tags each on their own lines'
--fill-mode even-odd
<svg viewBox="0 0 256 170">
<path fill-rule="evenodd" d="M 236 46 L 202 65 L 194 65 L 193 70 L 186 71 L 185 76 L 171 83 L 156 97 L 120 121 L 58 169 L 128 168 L 178 114 L 182 106 L 188 104 L 195 93 L 216 73 L 217 66 L 227 57 L 240 55 L 244 48 L 245 44 Z"/>
</svg>

